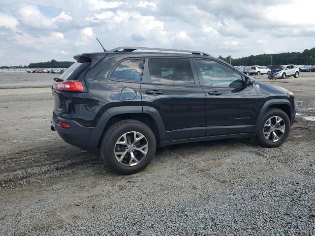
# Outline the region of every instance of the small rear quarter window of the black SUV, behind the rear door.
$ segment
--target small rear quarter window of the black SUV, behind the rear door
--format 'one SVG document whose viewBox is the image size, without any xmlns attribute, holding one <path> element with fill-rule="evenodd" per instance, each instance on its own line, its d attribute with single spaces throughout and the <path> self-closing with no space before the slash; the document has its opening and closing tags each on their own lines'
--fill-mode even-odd
<svg viewBox="0 0 315 236">
<path fill-rule="evenodd" d="M 113 71 L 111 77 L 118 80 L 141 81 L 143 59 L 123 60 Z"/>
</svg>

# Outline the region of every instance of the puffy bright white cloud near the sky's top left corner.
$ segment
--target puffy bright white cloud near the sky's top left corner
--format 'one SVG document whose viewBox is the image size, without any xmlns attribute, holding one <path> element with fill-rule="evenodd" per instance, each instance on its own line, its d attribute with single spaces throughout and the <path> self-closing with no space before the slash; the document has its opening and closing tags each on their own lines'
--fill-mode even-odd
<svg viewBox="0 0 315 236">
<path fill-rule="evenodd" d="M 23 4 L 19 10 L 19 21 L 30 29 L 56 29 L 54 22 L 43 15 L 36 5 Z"/>
</svg>

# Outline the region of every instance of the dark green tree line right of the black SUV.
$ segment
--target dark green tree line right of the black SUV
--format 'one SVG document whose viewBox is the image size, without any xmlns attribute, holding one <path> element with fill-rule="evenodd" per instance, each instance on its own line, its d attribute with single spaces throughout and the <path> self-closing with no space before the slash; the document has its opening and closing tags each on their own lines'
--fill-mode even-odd
<svg viewBox="0 0 315 236">
<path fill-rule="evenodd" d="M 226 58 L 219 56 L 219 59 L 226 61 L 234 66 L 236 65 L 285 65 L 285 64 L 295 64 L 295 65 L 315 65 L 315 48 L 305 49 L 302 53 L 292 52 L 292 53 L 278 53 L 278 54 L 260 54 L 256 56 L 249 56 L 243 58 L 231 58 L 228 56 Z"/>
</svg>

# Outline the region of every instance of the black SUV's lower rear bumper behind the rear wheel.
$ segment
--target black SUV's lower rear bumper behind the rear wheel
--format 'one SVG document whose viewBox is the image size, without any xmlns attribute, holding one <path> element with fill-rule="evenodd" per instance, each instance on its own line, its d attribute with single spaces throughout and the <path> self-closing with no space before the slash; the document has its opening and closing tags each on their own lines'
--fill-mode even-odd
<svg viewBox="0 0 315 236">
<path fill-rule="evenodd" d="M 70 128 L 62 128 L 57 121 L 63 121 L 70 125 Z M 59 136 L 68 144 L 82 149 L 95 149 L 98 139 L 95 139 L 95 127 L 85 127 L 71 119 L 63 119 L 53 113 L 52 126 Z"/>
</svg>

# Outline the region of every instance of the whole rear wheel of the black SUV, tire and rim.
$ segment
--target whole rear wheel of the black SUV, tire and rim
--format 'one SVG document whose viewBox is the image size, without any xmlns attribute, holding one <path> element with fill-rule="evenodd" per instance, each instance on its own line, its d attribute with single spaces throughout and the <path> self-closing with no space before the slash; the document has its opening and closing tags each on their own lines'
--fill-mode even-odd
<svg viewBox="0 0 315 236">
<path fill-rule="evenodd" d="M 137 142 L 133 136 L 134 133 L 136 133 L 136 136 L 141 137 L 142 135 L 144 137 Z M 126 141 L 126 145 L 118 144 L 118 142 L 122 143 L 122 140 Z M 138 151 L 145 144 L 148 147 L 145 150 L 142 149 L 142 151 L 146 152 L 146 155 Z M 138 148 L 138 150 L 133 149 L 133 147 Z M 137 120 L 126 119 L 113 124 L 105 132 L 100 145 L 100 154 L 104 163 L 107 163 L 113 171 L 122 175 L 131 175 L 142 171 L 150 164 L 156 148 L 156 137 L 146 124 Z M 122 154 L 116 155 L 119 152 L 122 152 Z M 123 153 L 125 154 L 123 155 Z"/>
</svg>

